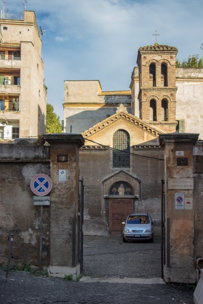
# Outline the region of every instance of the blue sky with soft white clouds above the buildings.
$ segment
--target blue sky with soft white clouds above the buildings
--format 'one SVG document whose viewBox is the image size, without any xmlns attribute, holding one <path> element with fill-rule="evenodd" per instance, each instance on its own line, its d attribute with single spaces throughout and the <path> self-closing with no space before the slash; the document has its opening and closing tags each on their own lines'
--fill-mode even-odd
<svg viewBox="0 0 203 304">
<path fill-rule="evenodd" d="M 35 11 L 43 29 L 47 102 L 63 120 L 64 80 L 99 80 L 103 91 L 129 90 L 138 49 L 178 48 L 203 56 L 202 0 L 6 0 L 5 12 Z M 3 10 L 3 0 L 0 2 Z"/>
</svg>

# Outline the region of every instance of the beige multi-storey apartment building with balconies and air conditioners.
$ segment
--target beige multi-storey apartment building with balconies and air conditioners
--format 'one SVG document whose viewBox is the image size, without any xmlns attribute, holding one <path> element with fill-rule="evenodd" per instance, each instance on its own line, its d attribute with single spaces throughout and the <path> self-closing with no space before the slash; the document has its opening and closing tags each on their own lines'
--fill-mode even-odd
<svg viewBox="0 0 203 304">
<path fill-rule="evenodd" d="M 0 139 L 45 133 L 46 90 L 35 12 L 0 18 Z"/>
</svg>

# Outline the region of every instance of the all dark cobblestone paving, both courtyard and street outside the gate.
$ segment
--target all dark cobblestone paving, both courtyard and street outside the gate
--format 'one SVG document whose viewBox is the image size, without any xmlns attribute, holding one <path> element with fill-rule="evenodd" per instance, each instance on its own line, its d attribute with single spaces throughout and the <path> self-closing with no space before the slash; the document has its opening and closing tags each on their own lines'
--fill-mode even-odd
<svg viewBox="0 0 203 304">
<path fill-rule="evenodd" d="M 0 270 L 0 303 L 193 303 L 193 291 L 185 286 L 143 284 L 142 280 L 157 277 L 160 277 L 159 239 L 154 243 L 122 243 L 121 238 L 85 237 L 82 281 L 35 277 L 25 272 L 10 272 L 6 279 L 5 272 Z M 107 282 L 102 281 L 104 278 Z M 118 283 L 118 279 L 123 283 Z M 124 283 L 126 279 L 140 283 Z"/>
</svg>

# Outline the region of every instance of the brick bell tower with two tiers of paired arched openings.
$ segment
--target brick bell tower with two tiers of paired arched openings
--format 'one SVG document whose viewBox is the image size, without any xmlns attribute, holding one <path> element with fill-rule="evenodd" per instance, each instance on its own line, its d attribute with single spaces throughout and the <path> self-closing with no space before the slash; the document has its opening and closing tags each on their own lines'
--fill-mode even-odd
<svg viewBox="0 0 203 304">
<path fill-rule="evenodd" d="M 157 43 L 138 51 L 140 118 L 164 133 L 176 132 L 177 52 Z"/>
</svg>

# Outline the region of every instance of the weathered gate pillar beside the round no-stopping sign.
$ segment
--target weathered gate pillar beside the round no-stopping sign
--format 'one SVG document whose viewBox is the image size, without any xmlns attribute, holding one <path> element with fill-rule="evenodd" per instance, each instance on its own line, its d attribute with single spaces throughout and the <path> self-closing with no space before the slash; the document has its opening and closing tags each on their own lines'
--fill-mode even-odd
<svg viewBox="0 0 203 304">
<path fill-rule="evenodd" d="M 51 192 L 50 265 L 51 276 L 80 273 L 78 244 L 79 147 L 81 134 L 45 134 L 50 144 Z"/>
</svg>

